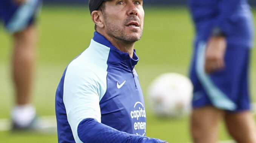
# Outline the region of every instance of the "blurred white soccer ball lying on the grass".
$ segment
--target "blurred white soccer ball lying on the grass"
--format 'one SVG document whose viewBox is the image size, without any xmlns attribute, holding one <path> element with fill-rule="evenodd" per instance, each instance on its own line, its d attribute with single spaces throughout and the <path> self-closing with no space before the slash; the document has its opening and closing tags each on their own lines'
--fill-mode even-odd
<svg viewBox="0 0 256 143">
<path fill-rule="evenodd" d="M 184 75 L 166 73 L 157 77 L 148 89 L 153 112 L 164 117 L 184 117 L 191 111 L 193 85 Z"/>
</svg>

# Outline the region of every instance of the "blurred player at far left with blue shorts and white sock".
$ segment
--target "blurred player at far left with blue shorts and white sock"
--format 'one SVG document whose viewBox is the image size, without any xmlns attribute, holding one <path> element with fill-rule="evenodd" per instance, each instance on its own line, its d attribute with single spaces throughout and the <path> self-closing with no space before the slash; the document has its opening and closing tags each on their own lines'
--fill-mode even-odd
<svg viewBox="0 0 256 143">
<path fill-rule="evenodd" d="M 12 34 L 14 45 L 12 78 L 16 105 L 11 114 L 13 129 L 31 128 L 35 119 L 35 108 L 30 100 L 37 41 L 35 18 L 40 4 L 40 0 L 0 0 L 0 21 Z"/>
</svg>

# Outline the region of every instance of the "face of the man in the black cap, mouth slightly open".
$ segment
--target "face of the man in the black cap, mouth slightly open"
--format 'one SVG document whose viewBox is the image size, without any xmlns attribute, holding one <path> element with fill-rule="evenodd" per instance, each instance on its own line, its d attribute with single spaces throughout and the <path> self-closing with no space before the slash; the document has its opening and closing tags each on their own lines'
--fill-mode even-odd
<svg viewBox="0 0 256 143">
<path fill-rule="evenodd" d="M 109 0 L 105 2 L 103 18 L 110 37 L 135 42 L 142 36 L 144 10 L 142 0 Z"/>
</svg>

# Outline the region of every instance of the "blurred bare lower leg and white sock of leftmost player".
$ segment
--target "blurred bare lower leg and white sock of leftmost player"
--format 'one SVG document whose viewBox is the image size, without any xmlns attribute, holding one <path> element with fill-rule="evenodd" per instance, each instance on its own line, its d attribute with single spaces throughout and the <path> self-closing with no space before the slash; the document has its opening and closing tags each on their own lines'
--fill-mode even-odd
<svg viewBox="0 0 256 143">
<path fill-rule="evenodd" d="M 17 128 L 26 128 L 35 118 L 31 98 L 36 41 L 37 32 L 34 24 L 13 34 L 12 78 L 16 101 L 12 119 Z"/>
</svg>

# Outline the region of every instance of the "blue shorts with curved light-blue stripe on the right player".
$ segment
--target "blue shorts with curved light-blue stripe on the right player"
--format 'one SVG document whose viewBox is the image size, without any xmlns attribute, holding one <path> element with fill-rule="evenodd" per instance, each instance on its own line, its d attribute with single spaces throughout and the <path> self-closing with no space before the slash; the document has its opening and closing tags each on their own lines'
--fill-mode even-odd
<svg viewBox="0 0 256 143">
<path fill-rule="evenodd" d="M 193 108 L 212 105 L 228 112 L 250 110 L 250 49 L 228 45 L 225 68 L 207 74 L 204 71 L 205 47 L 205 42 L 197 44 L 191 63 L 190 79 L 194 85 Z"/>
</svg>

